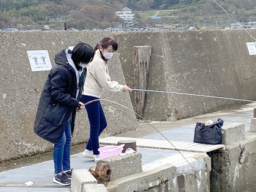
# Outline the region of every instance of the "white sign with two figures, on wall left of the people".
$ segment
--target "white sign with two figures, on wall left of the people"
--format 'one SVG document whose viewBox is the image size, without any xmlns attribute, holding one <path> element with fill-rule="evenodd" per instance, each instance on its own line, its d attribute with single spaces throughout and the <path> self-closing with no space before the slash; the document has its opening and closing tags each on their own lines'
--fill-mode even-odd
<svg viewBox="0 0 256 192">
<path fill-rule="evenodd" d="M 47 50 L 28 50 L 27 53 L 32 71 L 49 71 L 52 68 Z"/>
</svg>

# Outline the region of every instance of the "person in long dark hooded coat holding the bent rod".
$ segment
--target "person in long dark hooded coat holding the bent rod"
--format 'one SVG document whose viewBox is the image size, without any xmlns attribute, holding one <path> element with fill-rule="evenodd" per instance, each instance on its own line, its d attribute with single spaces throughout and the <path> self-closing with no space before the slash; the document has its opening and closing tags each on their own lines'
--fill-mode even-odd
<svg viewBox="0 0 256 192">
<path fill-rule="evenodd" d="M 84 109 L 79 101 L 86 76 L 87 65 L 94 57 L 93 48 L 78 43 L 55 55 L 56 65 L 50 70 L 44 83 L 35 116 L 34 132 L 54 143 L 53 182 L 71 184 L 70 143 L 75 126 L 76 111 Z"/>
</svg>

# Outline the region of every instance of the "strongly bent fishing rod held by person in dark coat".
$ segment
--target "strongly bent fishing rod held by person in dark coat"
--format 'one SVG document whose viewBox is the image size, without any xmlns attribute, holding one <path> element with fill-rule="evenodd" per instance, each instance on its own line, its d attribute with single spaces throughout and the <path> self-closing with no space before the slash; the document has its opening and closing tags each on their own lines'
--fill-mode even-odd
<svg viewBox="0 0 256 192">
<path fill-rule="evenodd" d="M 133 90 L 133 89 L 132 89 Z M 160 133 L 161 136 L 163 136 L 163 138 L 165 138 L 175 149 L 175 151 L 178 151 L 178 153 L 184 158 L 184 160 L 187 161 L 187 163 L 189 164 L 189 166 L 192 168 L 192 170 L 194 170 L 195 172 L 195 175 L 197 175 L 197 178 L 198 180 L 201 182 L 201 184 L 204 185 L 203 181 L 201 181 L 201 178 L 200 176 L 198 175 L 197 173 L 197 170 L 195 170 L 195 168 L 192 166 L 192 164 L 189 163 L 189 161 L 186 159 L 186 157 L 184 157 L 183 154 L 181 154 L 181 152 L 159 131 L 157 130 L 157 128 L 155 128 L 153 125 L 151 125 L 145 118 L 143 118 L 141 115 L 139 115 L 138 113 L 136 113 L 134 110 L 130 109 L 129 107 L 126 107 L 124 106 L 123 104 L 120 104 L 120 103 L 117 103 L 115 101 L 111 101 L 111 100 L 106 100 L 106 99 L 102 99 L 102 98 L 99 98 L 99 99 L 96 99 L 96 100 L 92 100 L 92 101 L 88 101 L 87 103 L 84 104 L 84 106 L 87 106 L 88 104 L 90 103 L 93 103 L 94 101 L 108 101 L 108 102 L 111 102 L 111 103 L 114 103 L 114 104 L 117 104 L 118 106 L 121 106 L 121 107 L 124 107 L 125 109 L 128 109 L 130 110 L 131 112 L 135 113 L 136 115 L 138 115 L 141 119 L 144 120 L 144 122 L 147 122 L 151 127 L 154 128 L 154 130 L 156 130 L 158 133 Z M 206 188 L 206 186 L 204 185 L 204 187 Z"/>
</svg>

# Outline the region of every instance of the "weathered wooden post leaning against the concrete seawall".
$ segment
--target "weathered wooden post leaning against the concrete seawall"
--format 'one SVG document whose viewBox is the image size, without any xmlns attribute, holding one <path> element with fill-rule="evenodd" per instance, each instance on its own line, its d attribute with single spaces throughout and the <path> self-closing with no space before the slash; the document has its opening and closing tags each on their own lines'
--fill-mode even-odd
<svg viewBox="0 0 256 192">
<path fill-rule="evenodd" d="M 133 66 L 136 89 L 147 89 L 148 68 L 150 65 L 151 48 L 151 46 L 134 47 Z M 145 91 L 135 92 L 135 112 L 141 116 L 143 116 L 144 114 L 145 94 Z"/>
</svg>

